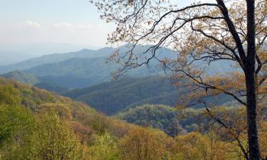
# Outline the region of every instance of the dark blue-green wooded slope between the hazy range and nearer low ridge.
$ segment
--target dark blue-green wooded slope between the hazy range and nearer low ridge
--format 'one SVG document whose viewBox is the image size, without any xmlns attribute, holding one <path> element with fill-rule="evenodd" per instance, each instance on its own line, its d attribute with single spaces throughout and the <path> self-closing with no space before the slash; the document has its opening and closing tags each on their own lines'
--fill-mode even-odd
<svg viewBox="0 0 267 160">
<path fill-rule="evenodd" d="M 82 89 L 70 90 L 63 95 L 85 102 L 105 114 L 116 114 L 130 107 L 145 104 L 177 105 L 182 95 L 182 87 L 176 88 L 172 82 L 161 76 L 145 78 L 120 78 Z M 218 95 L 206 100 L 216 105 L 232 100 Z M 198 107 L 198 106 L 196 106 Z"/>
</svg>

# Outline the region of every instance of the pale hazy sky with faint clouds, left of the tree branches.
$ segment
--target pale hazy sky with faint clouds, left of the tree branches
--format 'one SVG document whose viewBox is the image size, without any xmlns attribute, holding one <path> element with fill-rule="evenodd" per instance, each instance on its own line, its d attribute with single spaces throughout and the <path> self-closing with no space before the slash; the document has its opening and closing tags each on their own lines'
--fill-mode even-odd
<svg viewBox="0 0 267 160">
<path fill-rule="evenodd" d="M 190 1 L 177 3 L 184 6 Z M 99 15 L 88 0 L 0 0 L 0 44 L 101 48 L 115 25 L 105 23 Z"/>
</svg>

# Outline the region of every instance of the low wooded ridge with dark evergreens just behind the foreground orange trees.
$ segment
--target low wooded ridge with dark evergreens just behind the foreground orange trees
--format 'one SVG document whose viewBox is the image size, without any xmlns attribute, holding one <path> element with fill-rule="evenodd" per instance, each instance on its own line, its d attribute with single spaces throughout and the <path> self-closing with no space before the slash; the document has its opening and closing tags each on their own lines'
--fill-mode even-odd
<svg viewBox="0 0 267 160">
<path fill-rule="evenodd" d="M 218 106 L 219 110 L 236 110 L 239 107 Z M 209 130 L 209 123 L 212 123 L 212 119 L 206 117 L 205 109 L 177 110 L 167 105 L 132 107 L 115 114 L 115 117 L 131 124 L 160 129 L 171 137 L 196 130 L 205 133 Z"/>
</svg>

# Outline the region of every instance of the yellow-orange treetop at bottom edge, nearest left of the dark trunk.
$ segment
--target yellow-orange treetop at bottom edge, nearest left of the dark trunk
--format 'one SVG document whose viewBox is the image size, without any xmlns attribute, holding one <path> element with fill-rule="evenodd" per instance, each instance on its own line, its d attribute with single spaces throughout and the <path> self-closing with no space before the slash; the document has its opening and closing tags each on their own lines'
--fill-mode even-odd
<svg viewBox="0 0 267 160">
<path fill-rule="evenodd" d="M 224 160 L 236 159 L 229 151 L 225 154 L 229 144 L 219 141 L 214 135 L 205 136 L 198 132 L 190 132 L 187 135 L 174 139 L 177 143 L 172 146 L 172 159 L 188 160 Z"/>
</svg>

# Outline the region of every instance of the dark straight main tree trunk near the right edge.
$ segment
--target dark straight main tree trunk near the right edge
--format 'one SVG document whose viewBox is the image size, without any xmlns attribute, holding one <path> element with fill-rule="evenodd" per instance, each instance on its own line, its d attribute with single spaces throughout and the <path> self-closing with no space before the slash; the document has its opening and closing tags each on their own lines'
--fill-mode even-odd
<svg viewBox="0 0 267 160">
<path fill-rule="evenodd" d="M 257 100 L 256 100 L 256 27 L 255 27 L 255 0 L 247 0 L 247 38 L 248 48 L 245 64 L 246 101 L 248 126 L 248 153 L 250 160 L 260 160 L 257 127 Z"/>
</svg>

